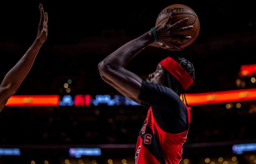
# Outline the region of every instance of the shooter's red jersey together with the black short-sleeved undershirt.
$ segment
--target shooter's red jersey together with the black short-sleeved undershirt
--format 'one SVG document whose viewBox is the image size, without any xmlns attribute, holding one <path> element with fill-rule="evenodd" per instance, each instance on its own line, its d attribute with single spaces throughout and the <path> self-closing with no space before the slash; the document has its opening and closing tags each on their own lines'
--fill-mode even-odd
<svg viewBox="0 0 256 164">
<path fill-rule="evenodd" d="M 190 109 L 171 89 L 142 82 L 141 105 L 150 108 L 136 145 L 136 164 L 178 164 L 191 122 Z"/>
</svg>

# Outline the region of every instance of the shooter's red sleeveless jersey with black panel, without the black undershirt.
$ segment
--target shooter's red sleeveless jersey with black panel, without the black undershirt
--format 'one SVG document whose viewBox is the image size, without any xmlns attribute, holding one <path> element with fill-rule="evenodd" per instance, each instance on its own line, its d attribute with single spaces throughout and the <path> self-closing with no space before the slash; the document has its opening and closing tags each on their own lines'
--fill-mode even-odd
<svg viewBox="0 0 256 164">
<path fill-rule="evenodd" d="M 189 123 L 191 122 L 190 109 L 187 108 Z M 163 131 L 157 124 L 150 107 L 137 141 L 136 164 L 180 163 L 182 145 L 186 142 L 188 130 L 178 134 Z"/>
</svg>

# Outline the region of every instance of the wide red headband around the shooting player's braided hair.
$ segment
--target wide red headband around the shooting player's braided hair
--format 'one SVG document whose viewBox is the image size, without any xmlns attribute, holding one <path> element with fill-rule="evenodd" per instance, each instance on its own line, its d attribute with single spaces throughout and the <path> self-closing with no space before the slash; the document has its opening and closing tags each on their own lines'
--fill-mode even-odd
<svg viewBox="0 0 256 164">
<path fill-rule="evenodd" d="M 193 84 L 191 76 L 173 58 L 167 57 L 159 65 L 169 71 L 180 82 L 184 90 Z"/>
</svg>

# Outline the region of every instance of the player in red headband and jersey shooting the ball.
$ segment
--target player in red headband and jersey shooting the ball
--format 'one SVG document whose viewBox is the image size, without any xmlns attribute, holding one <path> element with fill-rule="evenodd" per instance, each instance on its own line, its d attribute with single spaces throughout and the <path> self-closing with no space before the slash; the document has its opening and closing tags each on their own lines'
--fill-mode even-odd
<svg viewBox="0 0 256 164">
<path fill-rule="evenodd" d="M 157 70 L 148 76 L 146 82 L 125 69 L 129 61 L 146 46 L 182 50 L 170 42 L 191 39 L 191 36 L 179 36 L 177 33 L 193 26 L 179 28 L 188 18 L 171 25 L 175 13 L 171 13 L 165 24 L 124 44 L 98 65 L 105 82 L 148 109 L 137 141 L 136 164 L 178 164 L 182 159 L 182 145 L 187 139 L 191 114 L 180 95 L 185 96 L 184 91 L 193 83 L 193 64 L 185 58 L 168 57 L 157 65 Z M 153 43 L 156 38 L 158 42 Z"/>
</svg>

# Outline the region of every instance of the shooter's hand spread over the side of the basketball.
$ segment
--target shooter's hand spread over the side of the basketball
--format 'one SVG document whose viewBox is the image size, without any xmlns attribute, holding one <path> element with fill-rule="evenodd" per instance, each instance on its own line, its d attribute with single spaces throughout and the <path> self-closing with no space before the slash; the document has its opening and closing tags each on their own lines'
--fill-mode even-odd
<svg viewBox="0 0 256 164">
<path fill-rule="evenodd" d="M 182 27 L 182 24 L 185 24 L 188 21 L 188 18 L 184 18 L 174 24 L 171 24 L 172 17 L 174 16 L 175 13 L 176 11 L 174 10 L 164 24 L 161 24 L 155 27 L 155 32 L 157 33 L 158 42 L 169 47 L 175 46 L 175 44 L 173 43 L 175 42 L 175 40 L 191 39 L 191 36 L 179 35 L 178 33 L 187 31 L 193 28 L 193 26 Z M 180 47 L 177 46 L 175 48 L 179 49 Z"/>
</svg>

